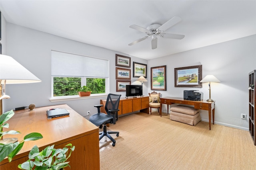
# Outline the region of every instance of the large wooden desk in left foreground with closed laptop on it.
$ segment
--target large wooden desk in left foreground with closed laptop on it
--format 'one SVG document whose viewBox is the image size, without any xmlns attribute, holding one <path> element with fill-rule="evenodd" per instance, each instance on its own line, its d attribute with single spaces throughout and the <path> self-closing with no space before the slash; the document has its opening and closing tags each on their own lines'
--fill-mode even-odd
<svg viewBox="0 0 256 170">
<path fill-rule="evenodd" d="M 65 108 L 70 115 L 47 119 L 46 110 L 52 108 Z M 68 158 L 71 169 L 100 169 L 99 128 L 68 105 L 36 107 L 32 111 L 29 109 L 15 111 L 15 115 L 7 123 L 10 126 L 8 129 L 4 128 L 4 131 L 16 130 L 22 134 L 4 135 L 4 138 L 16 137 L 21 141 L 25 135 L 32 132 L 41 133 L 43 138 L 24 142 L 23 148 L 12 162 L 9 163 L 6 158 L 0 163 L 0 170 L 18 170 L 18 164 L 28 160 L 28 154 L 34 145 L 42 150 L 50 145 L 55 145 L 56 149 L 63 148 L 68 143 L 76 147 Z"/>
</svg>

